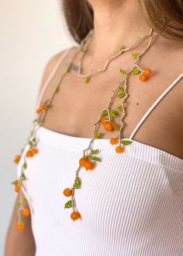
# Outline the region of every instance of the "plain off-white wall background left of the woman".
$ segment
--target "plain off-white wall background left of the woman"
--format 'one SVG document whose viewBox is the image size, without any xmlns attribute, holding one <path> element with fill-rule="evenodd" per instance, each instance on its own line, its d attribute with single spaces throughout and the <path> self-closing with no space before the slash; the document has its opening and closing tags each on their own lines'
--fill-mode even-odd
<svg viewBox="0 0 183 256">
<path fill-rule="evenodd" d="M 74 44 L 61 0 L 0 0 L 0 255 L 16 193 L 14 156 L 32 128 L 47 61 Z"/>
</svg>

